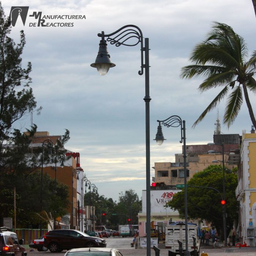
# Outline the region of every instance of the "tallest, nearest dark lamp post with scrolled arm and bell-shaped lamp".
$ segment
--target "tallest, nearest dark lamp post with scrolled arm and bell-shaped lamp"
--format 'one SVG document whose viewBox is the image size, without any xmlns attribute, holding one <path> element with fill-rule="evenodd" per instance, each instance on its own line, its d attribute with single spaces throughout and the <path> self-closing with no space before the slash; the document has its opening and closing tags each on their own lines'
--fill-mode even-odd
<svg viewBox="0 0 256 256">
<path fill-rule="evenodd" d="M 138 72 L 139 75 L 143 75 L 145 69 L 145 97 L 144 101 L 146 104 L 146 233 L 147 233 L 147 256 L 150 256 L 150 245 L 151 245 L 151 208 L 150 208 L 150 96 L 149 96 L 149 44 L 148 38 L 144 38 L 145 45 L 143 45 L 143 35 L 139 27 L 135 25 L 126 25 L 120 29 L 114 31 L 111 34 L 105 35 L 104 31 L 98 34 L 101 37 L 99 42 L 99 52 L 95 60 L 95 63 L 91 64 L 91 67 L 97 68 L 101 75 L 106 75 L 109 68 L 114 67 L 115 64 L 110 61 L 110 55 L 107 49 L 106 41 L 116 46 L 126 45 L 135 46 L 140 43 L 141 51 L 141 70 Z M 106 40 L 105 40 L 106 38 Z M 135 40 L 133 44 L 129 44 L 128 40 Z M 145 57 L 145 63 L 144 63 Z"/>
</svg>

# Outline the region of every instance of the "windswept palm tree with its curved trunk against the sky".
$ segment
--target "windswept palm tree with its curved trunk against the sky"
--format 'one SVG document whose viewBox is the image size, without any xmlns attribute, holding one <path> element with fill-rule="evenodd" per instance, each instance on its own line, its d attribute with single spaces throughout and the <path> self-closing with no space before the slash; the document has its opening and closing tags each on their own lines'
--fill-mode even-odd
<svg viewBox="0 0 256 256">
<path fill-rule="evenodd" d="M 247 56 L 248 50 L 244 39 L 230 26 L 219 22 L 214 22 L 206 40 L 195 46 L 190 58 L 194 64 L 181 69 L 181 78 L 205 76 L 206 79 L 199 86 L 201 92 L 218 86 L 224 86 L 224 88 L 195 121 L 193 127 L 227 96 L 223 123 L 229 128 L 241 108 L 242 91 L 252 124 L 256 127 L 248 96 L 248 89 L 253 93 L 256 92 L 256 81 L 253 78 L 256 72 L 256 51 L 248 61 L 245 60 Z"/>
</svg>

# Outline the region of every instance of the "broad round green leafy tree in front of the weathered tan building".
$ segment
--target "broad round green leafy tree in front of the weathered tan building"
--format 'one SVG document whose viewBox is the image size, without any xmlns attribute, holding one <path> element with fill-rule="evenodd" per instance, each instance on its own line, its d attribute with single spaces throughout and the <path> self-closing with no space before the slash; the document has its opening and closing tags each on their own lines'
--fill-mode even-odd
<svg viewBox="0 0 256 256">
<path fill-rule="evenodd" d="M 210 165 L 202 172 L 194 174 L 188 181 L 188 218 L 201 219 L 212 223 L 218 233 L 222 230 L 222 206 L 221 195 L 210 188 L 193 188 L 191 186 L 212 187 L 223 192 L 223 170 L 222 165 Z M 230 170 L 225 168 L 225 192 L 226 192 L 226 224 L 229 230 L 237 219 L 236 191 L 237 174 L 236 169 Z M 184 218 L 184 190 L 176 193 L 173 199 L 167 203 L 167 206 L 177 210 Z M 220 234 L 220 233 L 219 233 Z"/>
</svg>

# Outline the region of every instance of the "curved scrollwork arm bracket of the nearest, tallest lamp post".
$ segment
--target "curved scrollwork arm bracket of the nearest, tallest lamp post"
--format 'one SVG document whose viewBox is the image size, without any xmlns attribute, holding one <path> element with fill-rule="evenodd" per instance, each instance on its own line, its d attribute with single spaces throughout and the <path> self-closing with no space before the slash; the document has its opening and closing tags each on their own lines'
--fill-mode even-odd
<svg viewBox="0 0 256 256">
<path fill-rule="evenodd" d="M 115 36 L 112 37 L 112 35 L 115 35 Z M 104 31 L 102 31 L 102 33 L 98 33 L 98 37 L 101 37 L 102 41 L 105 41 L 105 37 L 106 37 L 107 38 L 106 41 L 110 42 L 110 44 L 112 45 L 116 45 L 117 47 L 120 45 L 135 46 L 140 43 L 141 70 L 138 73 L 139 75 L 143 75 L 143 68 L 144 68 L 143 51 L 145 51 L 145 48 L 143 47 L 142 31 L 138 26 L 126 25 L 114 31 L 111 34 L 106 34 L 106 35 Z M 133 41 L 132 43 L 128 43 L 129 39 L 132 39 L 132 40 L 135 39 L 135 41 Z"/>
</svg>

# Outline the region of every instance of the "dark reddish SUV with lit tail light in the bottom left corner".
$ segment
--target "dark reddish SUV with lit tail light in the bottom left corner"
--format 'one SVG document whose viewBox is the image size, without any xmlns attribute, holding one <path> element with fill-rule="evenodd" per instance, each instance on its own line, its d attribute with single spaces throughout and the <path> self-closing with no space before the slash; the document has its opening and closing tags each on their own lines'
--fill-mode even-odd
<svg viewBox="0 0 256 256">
<path fill-rule="evenodd" d="M 22 244 L 23 239 L 18 240 L 9 227 L 0 227 L 0 256 L 27 256 Z"/>
</svg>

